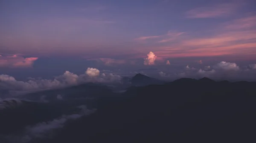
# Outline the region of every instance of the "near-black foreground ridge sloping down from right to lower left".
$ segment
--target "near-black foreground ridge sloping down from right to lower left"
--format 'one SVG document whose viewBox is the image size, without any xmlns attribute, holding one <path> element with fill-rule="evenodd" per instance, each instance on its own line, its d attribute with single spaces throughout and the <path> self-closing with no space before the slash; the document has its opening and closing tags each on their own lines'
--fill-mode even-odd
<svg viewBox="0 0 256 143">
<path fill-rule="evenodd" d="M 31 143 L 255 142 L 255 89 L 255 82 L 206 77 L 131 87 L 99 97 L 97 112 Z"/>
</svg>

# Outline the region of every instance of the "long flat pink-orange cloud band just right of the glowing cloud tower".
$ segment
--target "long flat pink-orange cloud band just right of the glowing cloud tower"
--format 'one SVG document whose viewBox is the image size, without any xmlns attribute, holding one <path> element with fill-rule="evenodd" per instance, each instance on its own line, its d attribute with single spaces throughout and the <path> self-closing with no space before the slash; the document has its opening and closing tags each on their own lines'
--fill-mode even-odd
<svg viewBox="0 0 256 143">
<path fill-rule="evenodd" d="M 232 54 L 251 54 L 256 55 L 256 43 L 235 43 L 234 41 L 207 43 L 200 40 L 191 40 L 191 44 L 183 44 L 166 47 L 155 47 L 158 51 L 154 53 L 158 57 L 169 58 L 169 57 L 211 57 L 221 55 L 232 55 Z M 185 42 L 185 40 L 184 40 Z M 198 43 L 197 43 L 198 42 Z M 251 58 L 252 56 L 250 56 Z M 198 63 L 201 63 L 198 61 Z"/>
</svg>

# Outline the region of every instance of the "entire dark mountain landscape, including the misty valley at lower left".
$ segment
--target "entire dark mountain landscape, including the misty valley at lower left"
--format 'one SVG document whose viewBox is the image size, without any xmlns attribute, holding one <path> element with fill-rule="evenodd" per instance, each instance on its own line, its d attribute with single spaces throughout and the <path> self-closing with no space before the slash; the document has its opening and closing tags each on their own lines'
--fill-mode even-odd
<svg viewBox="0 0 256 143">
<path fill-rule="evenodd" d="M 256 82 L 164 82 L 143 74 L 125 82 L 122 92 L 86 83 L 2 100 L 0 137 L 6 143 L 255 141 Z"/>
</svg>

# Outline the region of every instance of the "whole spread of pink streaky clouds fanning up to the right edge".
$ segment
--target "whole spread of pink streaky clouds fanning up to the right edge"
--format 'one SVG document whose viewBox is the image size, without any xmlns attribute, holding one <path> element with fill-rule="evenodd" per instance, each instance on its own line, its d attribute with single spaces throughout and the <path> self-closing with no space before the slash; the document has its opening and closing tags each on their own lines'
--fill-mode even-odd
<svg viewBox="0 0 256 143">
<path fill-rule="evenodd" d="M 247 16 L 228 23 L 222 23 L 213 29 L 211 35 L 194 37 L 184 32 L 168 32 L 154 40 L 148 49 L 154 50 L 163 59 L 169 57 L 211 57 L 239 55 L 242 59 L 256 57 L 256 15 Z M 169 37 L 168 37 L 169 36 Z M 175 41 L 172 43 L 171 41 Z M 170 41 L 170 43 L 168 43 Z M 162 42 L 166 42 L 162 46 Z M 168 44 L 168 45 L 167 45 Z M 238 58 L 238 57 L 236 57 Z M 201 63 L 199 61 L 199 63 Z"/>
</svg>

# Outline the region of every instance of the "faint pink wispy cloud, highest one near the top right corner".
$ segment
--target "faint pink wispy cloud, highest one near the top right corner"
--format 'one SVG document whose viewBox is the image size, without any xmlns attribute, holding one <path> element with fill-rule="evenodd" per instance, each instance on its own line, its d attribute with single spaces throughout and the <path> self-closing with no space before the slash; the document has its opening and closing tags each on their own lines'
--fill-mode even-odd
<svg viewBox="0 0 256 143">
<path fill-rule="evenodd" d="M 213 18 L 224 17 L 233 14 L 239 5 L 233 3 L 219 4 L 215 6 L 200 7 L 186 12 L 187 18 Z"/>
</svg>

